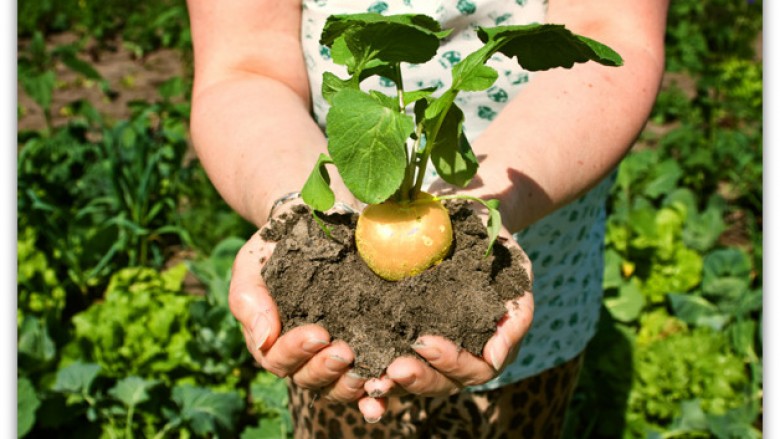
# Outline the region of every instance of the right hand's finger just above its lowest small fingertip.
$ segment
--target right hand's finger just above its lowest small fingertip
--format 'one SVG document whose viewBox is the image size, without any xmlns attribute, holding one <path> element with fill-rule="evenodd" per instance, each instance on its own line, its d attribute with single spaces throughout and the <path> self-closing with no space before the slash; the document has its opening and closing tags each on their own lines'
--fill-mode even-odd
<svg viewBox="0 0 780 439">
<path fill-rule="evenodd" d="M 409 393 L 449 396 L 462 386 L 417 358 L 399 357 L 387 366 L 387 376 Z"/>
</svg>

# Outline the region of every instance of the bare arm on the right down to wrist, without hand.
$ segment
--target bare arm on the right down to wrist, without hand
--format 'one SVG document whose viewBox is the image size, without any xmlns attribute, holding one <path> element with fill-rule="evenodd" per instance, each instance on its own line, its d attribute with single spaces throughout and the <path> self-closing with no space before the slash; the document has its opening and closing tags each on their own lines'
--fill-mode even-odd
<svg viewBox="0 0 780 439">
<path fill-rule="evenodd" d="M 475 140 L 485 154 L 467 192 L 501 199 L 522 229 L 572 201 L 618 164 L 644 127 L 664 69 L 668 0 L 550 0 L 548 22 L 624 58 L 536 73 Z"/>
</svg>

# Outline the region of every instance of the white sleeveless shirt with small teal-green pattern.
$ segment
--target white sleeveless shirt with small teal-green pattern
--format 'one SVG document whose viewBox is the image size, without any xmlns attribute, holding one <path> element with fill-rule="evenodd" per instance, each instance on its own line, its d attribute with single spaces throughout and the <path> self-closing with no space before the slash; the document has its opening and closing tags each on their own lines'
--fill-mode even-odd
<svg viewBox="0 0 780 439">
<path fill-rule="evenodd" d="M 476 26 L 543 23 L 547 0 L 303 0 L 301 39 L 313 113 L 323 127 L 328 104 L 320 94 L 322 74 L 330 71 L 341 78 L 347 74 L 343 66 L 332 62 L 328 48 L 319 44 L 320 33 L 329 15 L 359 12 L 426 14 L 443 28 L 454 29 L 434 59 L 423 65 L 402 66 L 406 89 L 438 86 L 443 91 L 451 82 L 453 65 L 481 46 Z M 495 84 L 482 92 L 460 93 L 457 98 L 465 115 L 464 132 L 472 142 L 532 78 L 514 59 L 500 54 L 488 65 L 499 73 Z M 381 78 L 369 78 L 361 87 L 391 95 L 395 92 L 395 85 Z M 432 168 L 427 167 L 428 184 L 436 178 Z M 595 334 L 601 308 L 604 204 L 610 186 L 611 180 L 603 181 L 514 235 L 533 262 L 534 321 L 516 360 L 500 376 L 472 390 L 494 389 L 536 375 L 585 349 Z"/>
</svg>

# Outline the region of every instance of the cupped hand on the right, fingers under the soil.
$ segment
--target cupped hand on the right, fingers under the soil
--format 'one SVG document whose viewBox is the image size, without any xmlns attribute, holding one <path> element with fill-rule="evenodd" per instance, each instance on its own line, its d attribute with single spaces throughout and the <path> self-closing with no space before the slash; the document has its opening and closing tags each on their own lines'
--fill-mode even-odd
<svg viewBox="0 0 780 439">
<path fill-rule="evenodd" d="M 504 245 L 520 249 L 506 229 L 500 236 Z M 532 273 L 527 257 L 523 265 Z M 507 313 L 498 322 L 496 333 L 485 344 L 481 357 L 458 348 L 443 337 L 422 336 L 412 347 L 429 364 L 415 357 L 397 358 L 387 367 L 384 376 L 366 383 L 366 392 L 369 396 L 382 397 L 405 393 L 447 396 L 463 387 L 484 384 L 495 378 L 514 360 L 520 341 L 531 326 L 533 295 L 526 291 L 506 306 Z"/>
</svg>

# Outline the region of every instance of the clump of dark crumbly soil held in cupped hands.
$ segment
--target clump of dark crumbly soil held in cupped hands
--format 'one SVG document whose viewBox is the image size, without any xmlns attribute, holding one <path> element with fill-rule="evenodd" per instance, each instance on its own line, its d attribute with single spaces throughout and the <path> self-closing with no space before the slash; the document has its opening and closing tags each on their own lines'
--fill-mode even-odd
<svg viewBox="0 0 780 439">
<path fill-rule="evenodd" d="M 525 255 L 496 242 L 484 257 L 488 235 L 467 203 L 447 204 L 454 242 L 450 255 L 424 273 L 390 282 L 357 254 L 357 215 L 322 217 L 328 238 L 308 208 L 295 206 L 263 230 L 277 243 L 263 278 L 279 307 L 282 332 L 317 323 L 355 353 L 354 371 L 378 377 L 393 359 L 416 355 L 421 335 L 444 336 L 475 355 L 495 333 L 506 302 L 531 290 Z"/>
</svg>

